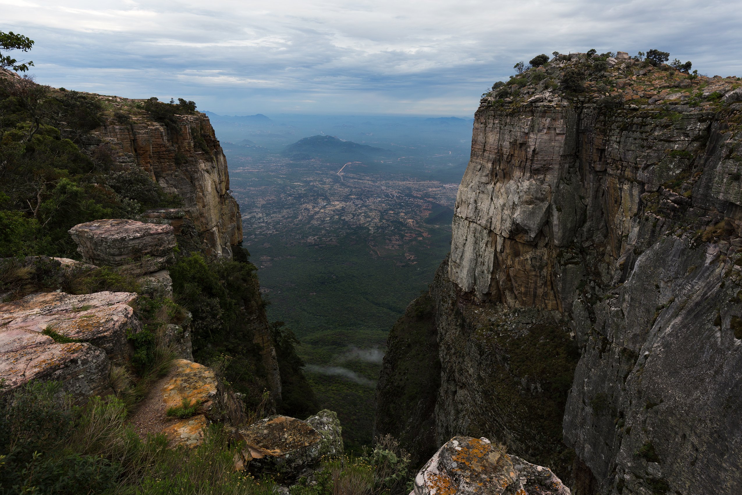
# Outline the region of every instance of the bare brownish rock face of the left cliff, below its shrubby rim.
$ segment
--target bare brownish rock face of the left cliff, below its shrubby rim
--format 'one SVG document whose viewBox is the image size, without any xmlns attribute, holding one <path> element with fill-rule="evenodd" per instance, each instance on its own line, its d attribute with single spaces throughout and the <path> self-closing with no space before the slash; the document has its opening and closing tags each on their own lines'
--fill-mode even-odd
<svg viewBox="0 0 742 495">
<path fill-rule="evenodd" d="M 177 125 L 168 126 L 135 109 L 137 100 L 102 99 L 120 108 L 119 116 L 126 116 L 108 117 L 93 131 L 102 140 L 102 149 L 111 154 L 113 168 L 138 165 L 148 171 L 165 191 L 183 198 L 185 215 L 194 223 L 206 254 L 231 257 L 231 246 L 242 240 L 242 218 L 229 194 L 226 157 L 209 117 L 177 115 Z"/>
</svg>

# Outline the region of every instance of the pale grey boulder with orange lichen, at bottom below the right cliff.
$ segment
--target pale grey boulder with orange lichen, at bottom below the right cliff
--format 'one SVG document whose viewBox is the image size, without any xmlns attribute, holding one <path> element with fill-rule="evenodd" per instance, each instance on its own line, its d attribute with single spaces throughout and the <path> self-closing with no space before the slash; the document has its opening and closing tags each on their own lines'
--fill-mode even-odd
<svg viewBox="0 0 742 495">
<path fill-rule="evenodd" d="M 489 440 L 455 436 L 415 477 L 410 495 L 570 495 L 548 468 L 532 465 Z"/>
</svg>

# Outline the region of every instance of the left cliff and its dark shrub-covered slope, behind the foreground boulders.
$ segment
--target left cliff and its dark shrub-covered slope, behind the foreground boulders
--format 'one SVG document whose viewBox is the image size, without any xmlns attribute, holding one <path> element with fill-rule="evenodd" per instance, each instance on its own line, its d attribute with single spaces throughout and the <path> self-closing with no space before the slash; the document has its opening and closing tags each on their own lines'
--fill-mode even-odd
<svg viewBox="0 0 742 495">
<path fill-rule="evenodd" d="M 171 267 L 174 302 L 192 315 L 197 361 L 218 364 L 251 407 L 263 389 L 282 407 L 283 380 L 294 404 L 286 407 L 314 412 L 289 335 L 267 321 L 255 266 L 239 246 L 242 225 L 226 159 L 208 117 L 195 108 L 185 100 L 84 94 L 0 73 L 0 257 L 79 259 L 67 231 L 91 220 L 171 223 L 179 246 Z M 8 264 L 4 273 L 4 296 L 59 288 L 56 275 L 44 269 L 18 272 Z M 116 288 L 136 291 L 137 285 L 101 269 L 66 287 Z M 173 312 L 171 303 L 148 296 L 139 301 L 142 311 L 153 313 Z M 154 341 L 142 335 L 135 344 L 146 355 Z"/>
</svg>

